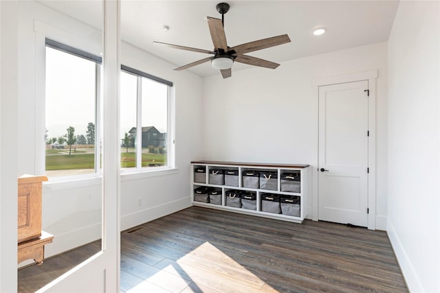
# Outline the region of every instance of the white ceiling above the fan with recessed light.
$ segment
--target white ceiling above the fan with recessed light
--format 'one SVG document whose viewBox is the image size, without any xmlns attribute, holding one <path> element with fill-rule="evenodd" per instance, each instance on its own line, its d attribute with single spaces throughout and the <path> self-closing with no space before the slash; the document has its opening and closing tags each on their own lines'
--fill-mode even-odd
<svg viewBox="0 0 440 293">
<path fill-rule="evenodd" d="M 99 1 L 41 1 L 85 23 L 98 27 L 94 10 Z M 78 2 L 82 5 L 75 7 Z M 93 1 L 92 1 L 93 2 Z M 212 50 L 206 16 L 221 19 L 215 8 L 221 1 L 121 1 L 121 38 L 158 56 L 176 67 L 209 57 L 192 51 L 153 44 L 153 40 Z M 85 9 L 86 3 L 89 8 Z M 291 43 L 252 52 L 249 55 L 283 62 L 329 51 L 347 49 L 388 40 L 398 1 L 227 1 L 225 34 L 233 47 L 252 40 L 288 34 Z M 81 7 L 82 6 L 82 7 Z M 77 11 L 77 12 L 76 12 Z M 99 14 L 98 14 L 99 15 Z M 98 22 L 98 23 L 97 23 Z M 163 26 L 168 25 L 168 32 Z M 327 27 L 322 36 L 312 34 Z M 282 65 L 281 65 L 282 66 Z M 234 71 L 250 68 L 235 63 Z M 219 74 L 207 62 L 187 69 L 202 77 Z M 273 70 L 273 69 L 261 69 Z M 276 70 L 276 69 L 275 69 Z"/>
</svg>

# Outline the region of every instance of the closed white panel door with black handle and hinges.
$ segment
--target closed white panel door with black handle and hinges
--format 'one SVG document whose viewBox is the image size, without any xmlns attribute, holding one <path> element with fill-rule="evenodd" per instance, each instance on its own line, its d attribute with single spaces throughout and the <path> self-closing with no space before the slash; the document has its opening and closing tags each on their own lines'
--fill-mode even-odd
<svg viewBox="0 0 440 293">
<path fill-rule="evenodd" d="M 319 87 L 318 220 L 368 224 L 368 89 Z"/>
</svg>

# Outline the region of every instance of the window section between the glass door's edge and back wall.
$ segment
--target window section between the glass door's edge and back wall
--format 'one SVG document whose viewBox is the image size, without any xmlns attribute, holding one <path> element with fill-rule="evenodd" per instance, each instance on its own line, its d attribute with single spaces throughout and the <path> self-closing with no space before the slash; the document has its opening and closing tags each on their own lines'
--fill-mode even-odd
<svg viewBox="0 0 440 293">
<path fill-rule="evenodd" d="M 174 167 L 173 84 L 124 66 L 120 84 L 121 167 Z"/>
</svg>

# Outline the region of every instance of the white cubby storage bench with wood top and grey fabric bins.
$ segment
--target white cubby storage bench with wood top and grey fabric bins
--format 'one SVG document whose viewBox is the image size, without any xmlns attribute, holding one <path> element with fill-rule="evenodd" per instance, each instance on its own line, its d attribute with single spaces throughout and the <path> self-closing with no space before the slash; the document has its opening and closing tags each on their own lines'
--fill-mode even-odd
<svg viewBox="0 0 440 293">
<path fill-rule="evenodd" d="M 308 173 L 309 165 L 192 161 L 192 204 L 301 223 L 307 216 Z M 209 202 L 213 192 L 221 198 Z"/>
</svg>

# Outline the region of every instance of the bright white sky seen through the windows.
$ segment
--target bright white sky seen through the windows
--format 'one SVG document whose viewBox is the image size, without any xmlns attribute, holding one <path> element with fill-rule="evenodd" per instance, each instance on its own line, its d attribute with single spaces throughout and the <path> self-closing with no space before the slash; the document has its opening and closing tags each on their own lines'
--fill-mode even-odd
<svg viewBox="0 0 440 293">
<path fill-rule="evenodd" d="M 86 136 L 95 123 L 95 62 L 46 47 L 45 121 L 48 138 L 60 137 L 73 126 Z M 136 126 L 136 76 L 121 73 L 120 137 Z M 142 126 L 167 131 L 167 86 L 142 78 Z"/>
</svg>

